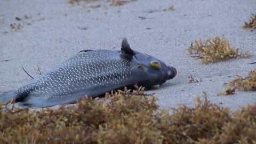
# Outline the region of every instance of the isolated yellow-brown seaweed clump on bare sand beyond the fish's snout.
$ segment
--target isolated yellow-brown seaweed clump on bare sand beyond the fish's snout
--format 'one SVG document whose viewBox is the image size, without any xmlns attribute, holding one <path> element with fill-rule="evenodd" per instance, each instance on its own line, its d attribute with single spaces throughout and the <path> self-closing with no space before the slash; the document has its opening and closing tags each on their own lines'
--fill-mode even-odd
<svg viewBox="0 0 256 144">
<path fill-rule="evenodd" d="M 195 44 L 191 43 L 187 50 L 191 57 L 201 59 L 202 63 L 214 63 L 231 58 L 247 58 L 250 56 L 249 52 L 239 53 L 238 49 L 231 48 L 224 36 L 222 38 L 218 36 L 208 38 L 204 43 L 199 39 L 195 41 Z"/>
</svg>

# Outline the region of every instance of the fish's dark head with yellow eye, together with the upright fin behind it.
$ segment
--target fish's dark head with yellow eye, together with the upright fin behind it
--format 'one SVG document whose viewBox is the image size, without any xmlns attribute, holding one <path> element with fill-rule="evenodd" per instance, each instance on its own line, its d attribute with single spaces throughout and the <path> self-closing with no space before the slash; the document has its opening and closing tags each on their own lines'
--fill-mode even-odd
<svg viewBox="0 0 256 144">
<path fill-rule="evenodd" d="M 158 89 L 160 85 L 172 79 L 177 74 L 177 70 L 174 67 L 167 66 L 163 61 L 151 55 L 133 51 L 126 38 L 122 41 L 121 55 L 121 57 L 129 61 L 135 61 L 133 63 L 135 68 L 144 70 L 145 73 L 138 76 L 138 79 L 142 79 L 142 77 L 147 79 L 147 81 L 141 84 L 143 86 Z"/>
</svg>

